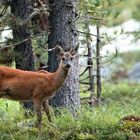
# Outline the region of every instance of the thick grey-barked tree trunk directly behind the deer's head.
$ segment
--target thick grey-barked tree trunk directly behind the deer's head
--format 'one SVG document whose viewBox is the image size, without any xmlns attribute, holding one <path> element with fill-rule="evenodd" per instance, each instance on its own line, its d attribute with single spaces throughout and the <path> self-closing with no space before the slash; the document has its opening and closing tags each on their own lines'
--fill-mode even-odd
<svg viewBox="0 0 140 140">
<path fill-rule="evenodd" d="M 59 44 L 65 51 L 68 51 L 78 43 L 77 32 L 75 31 L 75 22 L 73 22 L 76 15 L 75 0 L 50 0 L 49 6 L 49 48 L 53 48 L 56 44 Z M 51 100 L 52 106 L 67 107 L 72 111 L 72 113 L 74 113 L 76 107 L 80 105 L 78 59 L 79 56 L 77 55 L 66 82 Z M 49 71 L 56 71 L 58 65 L 58 52 L 49 52 Z"/>
</svg>

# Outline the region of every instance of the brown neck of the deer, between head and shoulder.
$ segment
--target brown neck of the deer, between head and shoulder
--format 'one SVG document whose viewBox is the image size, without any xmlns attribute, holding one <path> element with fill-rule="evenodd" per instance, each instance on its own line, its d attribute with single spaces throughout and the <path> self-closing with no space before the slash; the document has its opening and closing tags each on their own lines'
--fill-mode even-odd
<svg viewBox="0 0 140 140">
<path fill-rule="evenodd" d="M 58 89 L 59 87 L 61 87 L 68 75 L 69 70 L 64 69 L 62 67 L 62 62 L 60 62 L 59 68 L 57 69 L 57 71 L 54 73 L 53 75 L 53 82 L 55 83 L 55 89 Z"/>
</svg>

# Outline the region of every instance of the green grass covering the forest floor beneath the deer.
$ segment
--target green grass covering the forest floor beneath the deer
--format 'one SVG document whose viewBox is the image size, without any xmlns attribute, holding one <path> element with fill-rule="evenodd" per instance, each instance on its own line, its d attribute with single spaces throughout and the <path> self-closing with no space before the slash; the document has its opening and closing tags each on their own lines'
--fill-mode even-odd
<svg viewBox="0 0 140 140">
<path fill-rule="evenodd" d="M 84 96 L 86 93 L 82 93 Z M 63 109 L 53 116 L 53 124 L 43 115 L 43 128 L 29 127 L 35 117 L 25 119 L 24 111 L 17 102 L 0 101 L 0 140 L 127 140 L 140 139 L 140 133 L 131 130 L 140 123 L 122 124 L 127 115 L 140 116 L 140 87 L 136 84 L 105 84 L 103 101 L 96 107 L 83 105 L 77 117 Z M 8 105 L 7 105 L 8 104 Z"/>
</svg>

